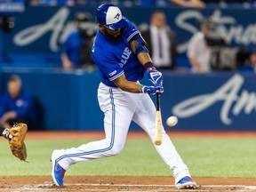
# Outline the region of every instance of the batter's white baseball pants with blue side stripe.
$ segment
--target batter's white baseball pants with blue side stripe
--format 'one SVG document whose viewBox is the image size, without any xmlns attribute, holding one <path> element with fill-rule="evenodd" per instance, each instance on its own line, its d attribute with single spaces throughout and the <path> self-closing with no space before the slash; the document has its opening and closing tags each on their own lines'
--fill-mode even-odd
<svg viewBox="0 0 256 192">
<path fill-rule="evenodd" d="M 119 88 L 108 87 L 100 83 L 98 89 L 100 109 L 104 112 L 104 130 L 106 139 L 92 141 L 78 148 L 61 150 L 60 166 L 65 170 L 70 164 L 97 159 L 104 156 L 116 156 L 124 148 L 127 132 L 132 121 L 148 133 L 152 142 L 155 137 L 156 107 L 145 93 L 124 92 Z M 183 163 L 169 136 L 164 132 L 162 145 L 156 150 L 172 170 L 175 183 L 190 176 L 188 167 Z"/>
</svg>

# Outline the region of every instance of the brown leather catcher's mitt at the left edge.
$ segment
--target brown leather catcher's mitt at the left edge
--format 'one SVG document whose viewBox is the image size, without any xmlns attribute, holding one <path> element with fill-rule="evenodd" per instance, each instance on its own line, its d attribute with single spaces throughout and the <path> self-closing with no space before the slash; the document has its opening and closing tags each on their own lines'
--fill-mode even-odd
<svg viewBox="0 0 256 192">
<path fill-rule="evenodd" d="M 14 124 L 6 133 L 6 138 L 9 139 L 9 145 L 12 150 L 12 155 L 25 162 L 27 158 L 27 148 L 24 140 L 27 132 L 27 124 Z"/>
</svg>

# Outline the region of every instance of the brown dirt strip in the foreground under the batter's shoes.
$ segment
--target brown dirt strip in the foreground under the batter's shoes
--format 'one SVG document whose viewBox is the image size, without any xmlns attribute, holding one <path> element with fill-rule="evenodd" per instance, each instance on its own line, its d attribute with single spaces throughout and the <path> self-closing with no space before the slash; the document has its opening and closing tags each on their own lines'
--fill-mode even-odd
<svg viewBox="0 0 256 192">
<path fill-rule="evenodd" d="M 256 191 L 255 179 L 194 178 L 196 189 L 182 191 Z M 0 191 L 180 191 L 170 177 L 71 177 L 65 187 L 56 187 L 51 177 L 2 177 Z"/>
</svg>

